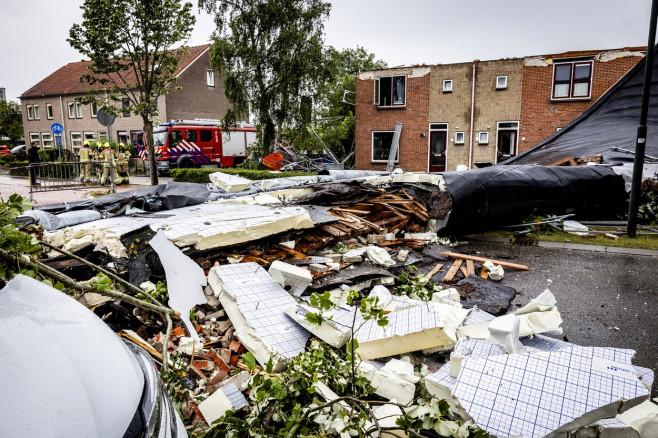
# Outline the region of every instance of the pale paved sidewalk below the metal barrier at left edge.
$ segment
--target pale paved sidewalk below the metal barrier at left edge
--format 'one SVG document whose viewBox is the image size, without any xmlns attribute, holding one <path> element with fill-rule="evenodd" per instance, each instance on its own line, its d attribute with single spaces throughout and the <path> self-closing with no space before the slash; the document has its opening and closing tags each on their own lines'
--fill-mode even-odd
<svg viewBox="0 0 658 438">
<path fill-rule="evenodd" d="M 159 177 L 160 184 L 166 184 L 171 181 L 171 178 Z M 117 192 L 127 192 L 129 190 L 138 189 L 140 187 L 148 186 L 151 181 L 148 176 L 131 175 L 129 185 L 116 186 Z M 74 190 L 58 190 L 49 192 L 35 192 L 33 193 L 34 205 L 49 205 L 60 204 L 62 202 L 76 202 L 84 201 L 87 195 L 91 192 L 109 191 L 108 187 L 104 188 L 90 188 L 90 189 L 74 189 Z M 30 198 L 30 181 L 27 178 L 12 178 L 8 175 L 0 175 L 0 198 L 3 200 L 9 199 L 9 196 L 17 193 L 24 198 Z"/>
</svg>

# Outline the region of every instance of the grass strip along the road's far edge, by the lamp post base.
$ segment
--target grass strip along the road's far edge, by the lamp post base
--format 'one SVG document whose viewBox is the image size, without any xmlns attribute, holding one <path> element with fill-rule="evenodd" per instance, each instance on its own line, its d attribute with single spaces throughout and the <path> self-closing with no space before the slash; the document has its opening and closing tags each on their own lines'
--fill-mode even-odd
<svg viewBox="0 0 658 438">
<path fill-rule="evenodd" d="M 596 231 L 625 231 L 622 228 L 611 227 L 611 228 L 596 228 Z M 639 229 L 638 233 L 649 232 L 646 230 Z M 492 236 L 502 236 L 509 238 L 510 241 L 514 242 L 514 233 L 511 231 L 491 231 L 487 233 Z M 619 248 L 636 248 L 636 249 L 653 249 L 658 250 L 658 234 L 652 236 L 637 236 L 635 238 L 630 238 L 627 235 L 620 235 L 619 239 L 611 240 L 606 237 L 603 237 L 603 234 L 596 234 L 594 238 L 584 238 L 578 236 L 577 234 L 561 233 L 555 232 L 552 234 L 543 234 L 543 233 L 528 233 L 524 234 L 525 237 L 532 237 L 542 242 L 559 242 L 559 243 L 575 243 L 578 245 L 596 245 L 596 246 L 614 246 Z M 520 236 L 520 237 L 523 237 Z"/>
</svg>

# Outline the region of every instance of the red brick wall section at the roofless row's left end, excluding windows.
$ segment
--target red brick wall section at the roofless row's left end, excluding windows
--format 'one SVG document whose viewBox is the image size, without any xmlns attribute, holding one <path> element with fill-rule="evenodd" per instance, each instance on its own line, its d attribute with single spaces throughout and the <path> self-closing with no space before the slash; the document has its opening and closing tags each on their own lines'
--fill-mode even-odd
<svg viewBox="0 0 658 438">
<path fill-rule="evenodd" d="M 406 76 L 406 106 L 378 108 L 374 105 L 374 79 Z M 378 70 L 356 77 L 355 160 L 357 169 L 385 170 L 386 163 L 372 162 L 372 132 L 393 131 L 402 122 L 399 164 L 407 171 L 427 171 L 430 68 Z"/>
</svg>

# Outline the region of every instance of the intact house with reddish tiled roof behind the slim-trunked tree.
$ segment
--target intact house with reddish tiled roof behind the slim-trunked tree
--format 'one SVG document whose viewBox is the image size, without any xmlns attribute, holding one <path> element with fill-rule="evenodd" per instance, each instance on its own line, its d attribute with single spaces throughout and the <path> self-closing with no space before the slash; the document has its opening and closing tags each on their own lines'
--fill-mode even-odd
<svg viewBox="0 0 658 438">
<path fill-rule="evenodd" d="M 161 122 L 172 119 L 220 119 L 228 107 L 223 80 L 210 68 L 209 45 L 190 47 L 178 65 L 177 87 L 158 99 Z M 61 123 L 62 147 L 76 152 L 85 140 L 107 137 L 107 128 L 96 119 L 95 104 L 76 102 L 90 86 L 80 82 L 88 74 L 90 61 L 74 62 L 58 69 L 20 96 L 23 130 L 26 142 L 37 141 L 40 147 L 54 147 L 56 139 L 50 126 Z M 111 126 L 111 137 L 122 143 L 133 143 L 143 129 L 142 118 L 130 112 L 117 117 Z"/>
</svg>

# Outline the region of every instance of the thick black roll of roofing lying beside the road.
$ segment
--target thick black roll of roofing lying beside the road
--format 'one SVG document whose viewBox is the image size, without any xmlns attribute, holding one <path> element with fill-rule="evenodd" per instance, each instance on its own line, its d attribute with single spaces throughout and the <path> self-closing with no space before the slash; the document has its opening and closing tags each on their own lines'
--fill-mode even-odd
<svg viewBox="0 0 658 438">
<path fill-rule="evenodd" d="M 603 219 L 623 212 L 624 180 L 607 166 L 492 166 L 443 174 L 452 210 L 441 234 L 520 223 L 531 214 Z"/>
</svg>

